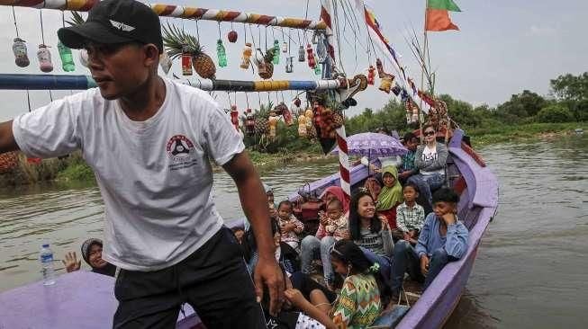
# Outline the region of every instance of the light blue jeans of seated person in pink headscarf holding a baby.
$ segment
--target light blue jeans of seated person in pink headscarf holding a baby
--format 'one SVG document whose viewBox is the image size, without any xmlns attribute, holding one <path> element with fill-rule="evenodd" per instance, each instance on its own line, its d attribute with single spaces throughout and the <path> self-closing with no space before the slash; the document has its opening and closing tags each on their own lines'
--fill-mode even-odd
<svg viewBox="0 0 588 329">
<path fill-rule="evenodd" d="M 335 238 L 324 236 L 319 240 L 316 236 L 306 236 L 300 243 L 300 258 L 303 273 L 310 274 L 312 271 L 312 260 L 320 252 L 322 262 L 322 274 L 325 283 L 331 284 L 335 279 L 333 266 L 330 264 L 330 248 L 335 245 Z"/>
</svg>

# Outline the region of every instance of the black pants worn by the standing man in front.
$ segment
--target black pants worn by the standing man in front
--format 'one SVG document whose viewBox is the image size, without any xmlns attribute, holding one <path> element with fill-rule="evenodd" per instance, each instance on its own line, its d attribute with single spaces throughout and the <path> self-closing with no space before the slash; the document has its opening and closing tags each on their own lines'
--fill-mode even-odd
<svg viewBox="0 0 588 329">
<path fill-rule="evenodd" d="M 227 227 L 167 269 L 121 270 L 114 295 L 119 301 L 115 329 L 175 328 L 184 303 L 207 329 L 266 328 L 239 244 Z"/>
</svg>

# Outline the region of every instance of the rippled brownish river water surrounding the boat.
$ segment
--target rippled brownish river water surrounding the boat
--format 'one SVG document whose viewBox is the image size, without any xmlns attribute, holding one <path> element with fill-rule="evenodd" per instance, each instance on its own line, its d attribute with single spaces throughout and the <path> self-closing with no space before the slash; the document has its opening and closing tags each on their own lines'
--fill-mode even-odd
<svg viewBox="0 0 588 329">
<path fill-rule="evenodd" d="M 446 328 L 587 327 L 588 136 L 481 152 L 501 182 L 500 208 Z M 333 161 L 321 161 L 260 174 L 282 200 L 337 169 Z M 224 218 L 242 216 L 233 186 L 225 173 L 215 174 L 215 200 Z M 87 237 L 102 236 L 103 216 L 94 186 L 0 190 L 0 292 L 40 279 L 42 242 L 50 242 L 61 259 L 79 251 Z"/>
</svg>

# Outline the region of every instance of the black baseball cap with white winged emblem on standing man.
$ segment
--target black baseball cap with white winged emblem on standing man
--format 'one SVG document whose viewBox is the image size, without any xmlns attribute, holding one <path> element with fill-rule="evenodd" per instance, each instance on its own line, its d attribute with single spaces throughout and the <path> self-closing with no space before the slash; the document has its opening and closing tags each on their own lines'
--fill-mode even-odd
<svg viewBox="0 0 588 329">
<path fill-rule="evenodd" d="M 163 52 L 159 16 L 147 4 L 134 0 L 104 0 L 95 4 L 86 22 L 61 28 L 59 40 L 71 49 L 84 48 L 86 41 L 96 43 L 153 43 Z"/>
</svg>

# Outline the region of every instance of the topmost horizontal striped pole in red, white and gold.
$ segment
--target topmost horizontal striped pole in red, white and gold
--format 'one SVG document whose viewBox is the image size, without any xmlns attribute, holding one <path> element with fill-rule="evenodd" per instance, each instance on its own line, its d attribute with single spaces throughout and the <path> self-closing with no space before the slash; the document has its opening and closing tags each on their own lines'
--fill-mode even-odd
<svg viewBox="0 0 588 329">
<path fill-rule="evenodd" d="M 87 12 L 98 0 L 0 0 L 0 5 L 30 7 L 37 9 L 58 9 Z M 266 26 L 280 26 L 292 29 L 324 30 L 325 22 L 302 18 L 271 16 L 260 13 L 232 12 L 219 9 L 206 9 L 175 4 L 147 4 L 159 16 L 190 20 L 216 22 L 243 22 Z"/>
</svg>

